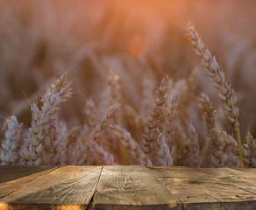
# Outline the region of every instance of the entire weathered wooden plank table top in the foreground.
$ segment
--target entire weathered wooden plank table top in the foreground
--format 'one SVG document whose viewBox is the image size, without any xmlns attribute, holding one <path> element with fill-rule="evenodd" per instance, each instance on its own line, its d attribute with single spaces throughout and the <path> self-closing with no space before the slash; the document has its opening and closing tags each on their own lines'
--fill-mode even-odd
<svg viewBox="0 0 256 210">
<path fill-rule="evenodd" d="M 256 169 L 0 166 L 0 209 L 256 209 Z"/>
</svg>

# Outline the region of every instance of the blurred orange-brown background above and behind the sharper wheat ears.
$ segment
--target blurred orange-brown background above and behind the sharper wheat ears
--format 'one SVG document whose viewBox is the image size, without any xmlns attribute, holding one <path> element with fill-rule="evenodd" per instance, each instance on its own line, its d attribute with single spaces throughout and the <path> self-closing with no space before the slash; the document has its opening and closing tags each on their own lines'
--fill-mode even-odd
<svg viewBox="0 0 256 210">
<path fill-rule="evenodd" d="M 167 72 L 174 82 L 199 69 L 193 109 L 188 109 L 203 141 L 196 102 L 210 96 L 223 118 L 222 102 L 185 38 L 190 21 L 224 70 L 238 96 L 242 136 L 247 126 L 256 137 L 255 1 L 0 1 L 0 124 L 12 114 L 30 125 L 29 102 L 39 102 L 53 78 L 68 71 L 73 97 L 60 118 L 86 123 L 84 104 L 104 102 L 110 71 L 120 83 L 121 100 L 138 113 L 143 80 L 152 91 Z M 151 100 L 151 99 L 150 99 Z M 202 132 L 202 133 L 201 133 Z"/>
</svg>

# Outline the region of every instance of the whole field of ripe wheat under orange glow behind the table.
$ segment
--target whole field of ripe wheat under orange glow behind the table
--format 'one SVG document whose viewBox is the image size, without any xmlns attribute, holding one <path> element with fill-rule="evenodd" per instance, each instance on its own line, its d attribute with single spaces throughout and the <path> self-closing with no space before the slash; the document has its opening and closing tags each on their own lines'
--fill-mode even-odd
<svg viewBox="0 0 256 210">
<path fill-rule="evenodd" d="M 0 165 L 256 167 L 255 4 L 0 1 Z"/>
</svg>

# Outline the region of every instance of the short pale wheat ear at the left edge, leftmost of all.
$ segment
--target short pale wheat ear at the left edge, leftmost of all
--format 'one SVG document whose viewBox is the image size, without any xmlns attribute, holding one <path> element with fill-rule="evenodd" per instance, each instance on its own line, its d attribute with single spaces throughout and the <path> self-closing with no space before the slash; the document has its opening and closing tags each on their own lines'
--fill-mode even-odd
<svg viewBox="0 0 256 210">
<path fill-rule="evenodd" d="M 1 165 L 15 165 L 18 160 L 17 147 L 22 131 L 22 124 L 18 123 L 16 116 L 6 119 L 7 130 L 4 135 L 4 142 L 0 148 Z"/>
</svg>

